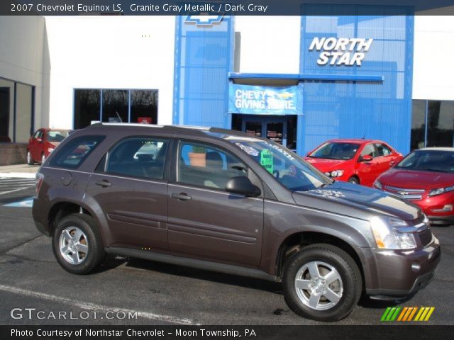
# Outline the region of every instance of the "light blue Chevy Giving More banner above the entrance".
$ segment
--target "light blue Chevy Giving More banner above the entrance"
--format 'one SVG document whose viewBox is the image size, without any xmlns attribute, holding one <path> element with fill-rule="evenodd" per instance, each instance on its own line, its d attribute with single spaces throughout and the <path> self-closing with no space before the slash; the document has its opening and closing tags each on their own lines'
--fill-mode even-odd
<svg viewBox="0 0 454 340">
<path fill-rule="evenodd" d="M 302 85 L 288 87 L 230 84 L 228 113 L 301 115 Z"/>
</svg>

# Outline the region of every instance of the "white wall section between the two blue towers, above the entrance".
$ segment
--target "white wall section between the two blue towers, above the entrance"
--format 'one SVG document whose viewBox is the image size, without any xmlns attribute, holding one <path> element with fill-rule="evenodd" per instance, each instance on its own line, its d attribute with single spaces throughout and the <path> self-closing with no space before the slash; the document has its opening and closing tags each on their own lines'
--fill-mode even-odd
<svg viewBox="0 0 454 340">
<path fill-rule="evenodd" d="M 243 73 L 299 73 L 299 16 L 236 16 Z"/>
</svg>

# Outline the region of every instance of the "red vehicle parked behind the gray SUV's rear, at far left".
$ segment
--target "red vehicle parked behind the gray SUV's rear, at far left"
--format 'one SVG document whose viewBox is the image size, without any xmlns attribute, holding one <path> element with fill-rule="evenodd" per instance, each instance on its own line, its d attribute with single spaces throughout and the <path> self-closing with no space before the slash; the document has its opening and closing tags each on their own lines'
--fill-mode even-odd
<svg viewBox="0 0 454 340">
<path fill-rule="evenodd" d="M 43 164 L 50 152 L 67 137 L 69 130 L 42 128 L 37 130 L 28 140 L 27 163 Z"/>
</svg>

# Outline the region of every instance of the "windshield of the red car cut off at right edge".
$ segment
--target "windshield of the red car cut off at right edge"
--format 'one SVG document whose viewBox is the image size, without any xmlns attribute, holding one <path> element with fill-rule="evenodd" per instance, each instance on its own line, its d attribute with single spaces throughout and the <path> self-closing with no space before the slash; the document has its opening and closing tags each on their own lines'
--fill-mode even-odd
<svg viewBox="0 0 454 340">
<path fill-rule="evenodd" d="M 411 152 L 397 164 L 396 168 L 454 174 L 454 152 L 435 150 Z"/>
</svg>

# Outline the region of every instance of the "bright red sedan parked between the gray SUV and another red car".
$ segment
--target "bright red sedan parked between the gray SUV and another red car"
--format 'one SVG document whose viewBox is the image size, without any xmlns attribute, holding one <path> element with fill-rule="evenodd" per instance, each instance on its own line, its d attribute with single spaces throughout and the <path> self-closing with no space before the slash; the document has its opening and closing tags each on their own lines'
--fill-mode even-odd
<svg viewBox="0 0 454 340">
<path fill-rule="evenodd" d="M 336 181 L 372 186 L 380 174 L 402 160 L 381 140 L 328 140 L 307 154 L 311 163 Z"/>
</svg>

